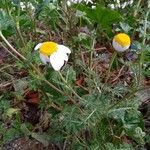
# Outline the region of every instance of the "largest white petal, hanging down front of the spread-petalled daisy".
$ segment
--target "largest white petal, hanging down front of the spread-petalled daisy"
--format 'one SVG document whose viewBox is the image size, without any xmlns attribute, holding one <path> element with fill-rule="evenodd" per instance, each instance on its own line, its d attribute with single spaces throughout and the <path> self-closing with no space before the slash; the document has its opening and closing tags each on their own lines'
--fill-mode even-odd
<svg viewBox="0 0 150 150">
<path fill-rule="evenodd" d="M 54 70 L 59 71 L 65 62 L 59 53 L 55 52 L 50 56 L 50 63 Z"/>
</svg>

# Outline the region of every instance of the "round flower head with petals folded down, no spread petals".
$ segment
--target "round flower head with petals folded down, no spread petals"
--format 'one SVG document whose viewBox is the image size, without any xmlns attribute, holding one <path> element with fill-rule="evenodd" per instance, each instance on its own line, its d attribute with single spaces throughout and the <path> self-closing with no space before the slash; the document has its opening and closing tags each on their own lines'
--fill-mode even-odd
<svg viewBox="0 0 150 150">
<path fill-rule="evenodd" d="M 131 45 L 130 37 L 125 33 L 119 33 L 113 38 L 112 45 L 118 52 L 124 52 Z"/>
</svg>

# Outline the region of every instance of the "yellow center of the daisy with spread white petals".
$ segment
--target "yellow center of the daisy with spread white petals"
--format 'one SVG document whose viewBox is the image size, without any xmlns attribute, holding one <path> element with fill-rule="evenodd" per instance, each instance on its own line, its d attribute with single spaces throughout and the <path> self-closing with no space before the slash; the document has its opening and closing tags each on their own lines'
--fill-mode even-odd
<svg viewBox="0 0 150 150">
<path fill-rule="evenodd" d="M 50 56 L 57 51 L 58 44 L 55 42 L 44 42 L 40 47 L 40 53 L 46 56 Z"/>
</svg>

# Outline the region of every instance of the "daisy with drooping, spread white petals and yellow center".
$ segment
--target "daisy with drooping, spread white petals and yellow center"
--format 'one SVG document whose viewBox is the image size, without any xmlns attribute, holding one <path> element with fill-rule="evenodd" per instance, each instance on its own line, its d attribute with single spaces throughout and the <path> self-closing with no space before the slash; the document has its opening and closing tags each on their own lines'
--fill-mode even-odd
<svg viewBox="0 0 150 150">
<path fill-rule="evenodd" d="M 55 42 L 43 42 L 35 46 L 34 50 L 38 50 L 40 59 L 44 64 L 51 63 L 54 70 L 59 71 L 65 62 L 68 61 L 68 54 L 71 50 Z"/>
</svg>

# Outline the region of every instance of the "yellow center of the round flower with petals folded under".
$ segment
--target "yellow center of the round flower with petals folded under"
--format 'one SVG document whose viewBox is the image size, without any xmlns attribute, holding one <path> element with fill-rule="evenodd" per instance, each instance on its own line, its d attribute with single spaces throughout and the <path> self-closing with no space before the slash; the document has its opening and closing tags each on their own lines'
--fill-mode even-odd
<svg viewBox="0 0 150 150">
<path fill-rule="evenodd" d="M 125 33 L 119 33 L 114 37 L 114 40 L 121 46 L 128 46 L 131 44 L 130 37 Z"/>
</svg>

